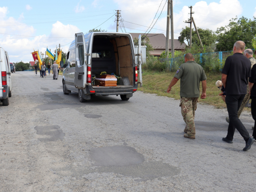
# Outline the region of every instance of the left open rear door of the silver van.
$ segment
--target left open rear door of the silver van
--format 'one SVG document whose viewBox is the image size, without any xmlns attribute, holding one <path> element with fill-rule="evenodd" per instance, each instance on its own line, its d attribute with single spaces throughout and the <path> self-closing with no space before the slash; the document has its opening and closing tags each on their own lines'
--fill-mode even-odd
<svg viewBox="0 0 256 192">
<path fill-rule="evenodd" d="M 75 70 L 75 87 L 84 89 L 86 84 L 87 65 L 85 64 L 86 49 L 84 43 L 84 33 L 76 33 L 76 70 Z"/>
</svg>

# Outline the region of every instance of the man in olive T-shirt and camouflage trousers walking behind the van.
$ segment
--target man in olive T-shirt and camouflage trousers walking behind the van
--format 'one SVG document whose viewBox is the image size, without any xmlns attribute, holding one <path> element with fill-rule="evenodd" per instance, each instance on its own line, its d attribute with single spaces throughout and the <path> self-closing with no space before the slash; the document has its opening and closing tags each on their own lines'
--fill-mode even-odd
<svg viewBox="0 0 256 192">
<path fill-rule="evenodd" d="M 180 108 L 183 120 L 186 123 L 184 137 L 195 139 L 195 110 L 198 97 L 200 96 L 200 81 L 202 81 L 203 92 L 201 99 L 206 98 L 206 75 L 203 67 L 197 64 L 191 53 L 185 55 L 185 63 L 181 64 L 172 79 L 167 93 L 180 79 Z"/>
</svg>

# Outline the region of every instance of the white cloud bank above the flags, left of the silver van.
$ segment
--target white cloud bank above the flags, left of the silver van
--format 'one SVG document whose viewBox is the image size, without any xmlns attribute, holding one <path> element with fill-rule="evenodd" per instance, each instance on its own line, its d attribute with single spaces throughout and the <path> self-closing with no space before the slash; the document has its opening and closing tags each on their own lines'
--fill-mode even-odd
<svg viewBox="0 0 256 192">
<path fill-rule="evenodd" d="M 3 9 L 0 7 L 0 12 L 6 13 L 7 8 Z M 0 18 L 0 23 L 0 33 L 13 34 L 0 34 L 0 45 L 8 52 L 10 61 L 12 62 L 32 61 L 31 52 L 33 52 L 34 49 L 39 49 L 40 52 L 45 52 L 48 46 L 48 49 L 51 49 L 53 52 L 56 45 L 65 45 L 70 43 L 75 39 L 75 33 L 81 32 L 81 30 L 76 26 L 64 25 L 57 21 L 52 24 L 49 36 L 47 34 L 37 37 L 27 37 L 35 36 L 36 29 L 34 29 L 33 26 L 28 26 L 21 23 L 20 20 L 15 20 L 13 17 L 7 17 L 6 15 Z M 64 52 L 67 52 L 68 47 L 69 44 L 61 48 Z"/>
</svg>

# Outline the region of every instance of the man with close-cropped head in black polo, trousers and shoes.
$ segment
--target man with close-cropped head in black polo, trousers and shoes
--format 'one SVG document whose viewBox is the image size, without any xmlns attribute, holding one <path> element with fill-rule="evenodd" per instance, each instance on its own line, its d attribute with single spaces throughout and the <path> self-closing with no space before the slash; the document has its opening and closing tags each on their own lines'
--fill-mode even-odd
<svg viewBox="0 0 256 192">
<path fill-rule="evenodd" d="M 250 149 L 254 139 L 250 137 L 248 131 L 238 119 L 238 110 L 247 93 L 248 78 L 250 77 L 250 60 L 244 57 L 245 43 L 236 41 L 233 47 L 233 55 L 227 57 L 222 70 L 221 81 L 226 90 L 226 104 L 230 123 L 228 125 L 227 137 L 222 140 L 233 143 L 233 136 L 237 129 L 245 140 L 243 151 Z"/>
</svg>

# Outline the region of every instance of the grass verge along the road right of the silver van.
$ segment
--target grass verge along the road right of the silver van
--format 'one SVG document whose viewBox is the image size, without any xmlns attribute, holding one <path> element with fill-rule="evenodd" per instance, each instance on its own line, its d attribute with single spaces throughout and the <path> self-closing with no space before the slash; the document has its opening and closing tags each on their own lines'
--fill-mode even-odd
<svg viewBox="0 0 256 192">
<path fill-rule="evenodd" d="M 221 73 L 213 74 L 206 73 L 207 75 L 207 91 L 206 99 L 198 99 L 201 104 L 213 105 L 216 108 L 226 108 L 226 104 L 218 94 L 221 91 L 215 86 L 215 82 L 221 80 Z M 167 88 L 175 76 L 175 73 L 171 72 L 154 72 L 143 71 L 143 87 L 138 90 L 146 93 L 155 93 L 158 96 L 167 96 L 175 99 L 180 99 L 180 81 L 172 87 L 171 93 L 167 93 Z M 200 84 L 200 92 L 202 93 L 202 86 Z"/>
</svg>

